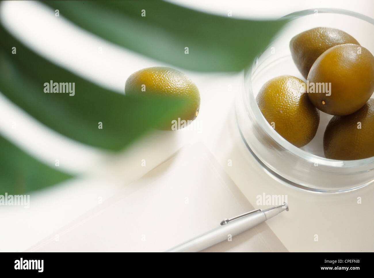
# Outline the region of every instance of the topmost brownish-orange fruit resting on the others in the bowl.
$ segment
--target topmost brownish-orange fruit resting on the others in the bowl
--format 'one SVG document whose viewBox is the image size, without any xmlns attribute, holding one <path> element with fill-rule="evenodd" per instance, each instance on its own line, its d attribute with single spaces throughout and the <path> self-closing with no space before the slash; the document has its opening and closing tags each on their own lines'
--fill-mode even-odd
<svg viewBox="0 0 374 278">
<path fill-rule="evenodd" d="M 335 116 L 352 114 L 373 94 L 374 56 L 363 46 L 334 46 L 315 61 L 307 84 L 315 87 L 308 96 L 319 110 Z"/>
</svg>

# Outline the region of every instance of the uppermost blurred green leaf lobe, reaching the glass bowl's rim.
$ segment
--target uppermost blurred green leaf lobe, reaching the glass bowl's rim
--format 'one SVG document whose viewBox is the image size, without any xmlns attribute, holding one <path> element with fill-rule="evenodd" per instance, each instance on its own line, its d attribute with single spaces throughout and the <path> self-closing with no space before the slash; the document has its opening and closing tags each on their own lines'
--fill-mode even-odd
<svg viewBox="0 0 374 278">
<path fill-rule="evenodd" d="M 196 71 L 240 71 L 287 22 L 197 12 L 165 1 L 44 1 L 86 30 L 148 57 Z M 142 16 L 145 10 L 145 16 Z M 185 48 L 188 47 L 188 54 Z"/>
</svg>

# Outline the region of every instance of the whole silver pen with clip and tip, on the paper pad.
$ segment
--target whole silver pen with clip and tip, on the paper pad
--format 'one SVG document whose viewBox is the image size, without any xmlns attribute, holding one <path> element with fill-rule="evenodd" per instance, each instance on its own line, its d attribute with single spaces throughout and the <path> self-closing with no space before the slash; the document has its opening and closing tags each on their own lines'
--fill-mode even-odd
<svg viewBox="0 0 374 278">
<path fill-rule="evenodd" d="M 288 205 L 284 202 L 282 205 L 273 206 L 265 210 L 255 209 L 246 212 L 231 219 L 225 219 L 221 226 L 209 232 L 203 233 L 196 238 L 190 239 L 166 252 L 197 252 L 211 247 L 217 243 L 227 240 L 229 235 L 236 236 L 246 230 L 249 230 L 258 224 L 274 217 L 282 211 L 288 211 Z M 235 221 L 234 221 L 235 220 Z"/>
</svg>

